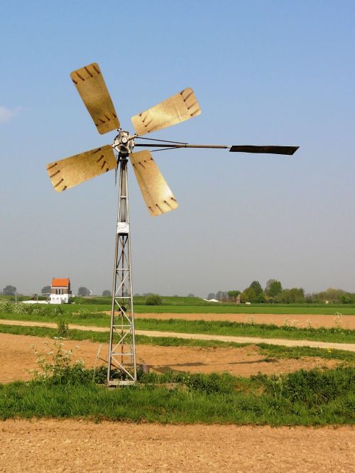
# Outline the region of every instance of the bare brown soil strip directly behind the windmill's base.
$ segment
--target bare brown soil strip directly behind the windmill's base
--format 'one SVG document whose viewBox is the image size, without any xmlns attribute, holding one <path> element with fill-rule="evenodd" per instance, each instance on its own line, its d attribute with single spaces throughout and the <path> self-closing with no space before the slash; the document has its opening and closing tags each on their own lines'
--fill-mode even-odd
<svg viewBox="0 0 355 473">
<path fill-rule="evenodd" d="M 45 342 L 45 344 L 44 344 Z M 37 369 L 33 345 L 38 351 L 53 349 L 53 340 L 43 337 L 0 334 L 0 382 L 16 379 L 31 379 L 29 370 Z M 99 343 L 87 340 L 79 342 L 66 340 L 65 349 L 72 349 L 72 359 L 82 359 L 85 366 L 93 366 L 100 347 Z M 107 359 L 107 345 L 102 345 L 100 357 Z M 255 345 L 240 348 L 214 347 L 158 347 L 156 345 L 137 345 L 138 363 L 145 363 L 158 372 L 174 369 L 193 373 L 212 373 L 228 371 L 239 376 L 250 376 L 258 371 L 264 374 L 279 374 L 297 369 L 333 367 L 336 360 L 317 357 L 302 359 L 279 359 L 263 361 L 265 355 L 259 353 Z"/>
</svg>

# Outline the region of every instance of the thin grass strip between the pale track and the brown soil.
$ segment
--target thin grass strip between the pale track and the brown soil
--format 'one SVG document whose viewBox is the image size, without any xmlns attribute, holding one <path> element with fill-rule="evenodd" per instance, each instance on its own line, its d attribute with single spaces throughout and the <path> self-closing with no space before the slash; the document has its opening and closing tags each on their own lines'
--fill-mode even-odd
<svg viewBox="0 0 355 473">
<path fill-rule="evenodd" d="M 31 335 L 35 337 L 57 337 L 58 331 L 46 327 L 21 327 L 19 325 L 1 325 L 0 333 L 8 333 L 11 335 Z M 90 340 L 91 342 L 107 343 L 109 339 L 108 333 L 90 332 L 84 330 L 70 330 L 70 339 L 73 340 Z M 174 337 L 146 337 L 144 335 L 136 335 L 136 343 L 142 345 L 157 345 L 161 347 L 245 347 L 246 344 L 234 342 L 219 342 L 219 340 L 196 340 L 181 339 Z M 355 353 L 346 352 L 345 350 L 310 348 L 310 347 L 280 347 L 278 345 L 268 345 L 264 343 L 256 344 L 260 348 L 261 355 L 266 358 L 293 358 L 301 357 L 320 357 L 324 359 L 339 359 L 355 363 Z"/>
</svg>

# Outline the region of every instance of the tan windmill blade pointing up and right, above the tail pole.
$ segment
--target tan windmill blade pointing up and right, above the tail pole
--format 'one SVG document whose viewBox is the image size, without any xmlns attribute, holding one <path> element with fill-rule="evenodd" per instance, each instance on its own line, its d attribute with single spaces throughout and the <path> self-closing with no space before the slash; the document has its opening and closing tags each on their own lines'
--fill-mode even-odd
<svg viewBox="0 0 355 473">
<path fill-rule="evenodd" d="M 184 89 L 131 120 L 139 136 L 158 131 L 200 115 L 201 109 L 192 89 Z"/>
</svg>

